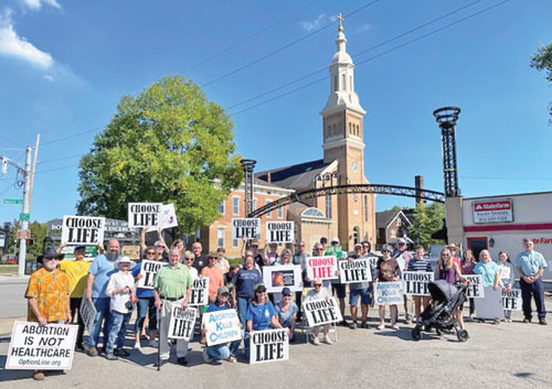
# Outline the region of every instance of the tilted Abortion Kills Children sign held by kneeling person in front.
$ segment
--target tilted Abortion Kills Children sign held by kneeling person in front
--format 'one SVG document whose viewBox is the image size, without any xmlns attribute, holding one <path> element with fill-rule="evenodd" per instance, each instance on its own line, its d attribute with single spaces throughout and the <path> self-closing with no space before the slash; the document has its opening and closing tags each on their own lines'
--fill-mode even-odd
<svg viewBox="0 0 552 389">
<path fill-rule="evenodd" d="M 206 312 L 203 314 L 203 326 L 206 329 L 208 346 L 216 346 L 242 338 L 236 310 Z"/>
</svg>

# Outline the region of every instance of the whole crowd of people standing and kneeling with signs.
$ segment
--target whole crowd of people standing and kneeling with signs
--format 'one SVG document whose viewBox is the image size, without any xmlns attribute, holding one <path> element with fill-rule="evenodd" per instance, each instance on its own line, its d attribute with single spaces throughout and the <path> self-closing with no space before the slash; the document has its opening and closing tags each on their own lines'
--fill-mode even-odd
<svg viewBox="0 0 552 389">
<path fill-rule="evenodd" d="M 241 264 L 230 264 L 224 258 L 224 248 L 216 252 L 202 253 L 201 242 L 193 242 L 191 251 L 185 250 L 182 240 L 174 241 L 167 247 L 161 234 L 153 246 L 145 244 L 146 228 L 142 233 L 141 248 L 144 259 L 161 261 L 162 266 L 153 278 L 153 289 L 137 288 L 140 280 L 142 262 L 135 263 L 128 257 L 120 256 L 120 246 L 117 239 L 110 239 L 107 247 L 92 262 L 84 260 L 85 247 L 75 247 L 74 260 L 62 260 L 59 250 L 47 248 L 41 260 L 43 267 L 34 272 L 25 292 L 29 301 L 29 321 L 41 325 L 47 323 L 71 323 L 73 317 L 78 317 L 78 336 L 76 348 L 87 349 L 92 357 L 100 353 L 109 360 L 117 356 L 128 356 L 124 349 L 126 327 L 128 326 L 135 306 L 137 320 L 135 329 L 135 348 L 141 349 L 141 339 L 149 335 L 149 345 L 159 347 L 159 364 L 169 360 L 170 346 L 168 329 L 171 307 L 180 305 L 187 309 L 190 303 L 190 293 L 193 280 L 209 277 L 209 304 L 204 310 L 199 310 L 199 315 L 204 312 L 235 309 L 244 331 L 245 353 L 248 353 L 248 337 L 253 331 L 268 329 L 272 327 L 288 328 L 289 339 L 295 339 L 295 329 L 301 320 L 301 299 L 327 300 L 331 294 L 337 296 L 343 316 L 344 325 L 351 329 L 368 328 L 369 307 L 373 305 L 373 282 L 357 282 L 349 284 L 349 305 L 351 322 L 344 321 L 346 284 L 338 280 L 310 280 L 307 277 L 307 258 L 336 255 L 338 260 L 354 261 L 362 258 L 374 258 L 371 245 L 368 241 L 354 245 L 351 255 L 342 251 L 339 239 L 333 238 L 330 245 L 321 239 L 312 247 L 312 252 L 306 250 L 305 242 L 291 245 L 290 249 L 278 252 L 277 246 L 265 245 L 263 253 L 258 250 L 257 241 L 243 242 Z M 465 280 L 465 274 L 481 274 L 484 287 L 509 290 L 513 287 L 517 277 L 520 277 L 520 288 L 523 300 L 523 322 L 532 320 L 531 299 L 537 303 L 540 324 L 545 322 L 545 307 L 542 285 L 542 273 L 546 268 L 543 256 L 534 251 L 531 240 L 523 240 L 524 250 L 511 263 L 507 252 L 500 252 L 500 263 L 491 260 L 488 250 L 482 250 L 479 261 L 474 258 L 470 250 L 461 255 L 455 245 L 445 247 L 437 260 L 435 270 L 425 257 L 424 248 L 417 246 L 412 255 L 406 250 L 406 241 L 400 238 L 393 248 L 383 245 L 381 257 L 372 269 L 372 279 L 375 282 L 399 281 L 403 271 L 435 271 L 435 279 L 443 279 L 455 283 Z M 297 246 L 295 249 L 294 246 Z M 284 288 L 282 293 L 266 293 L 263 284 L 262 268 L 266 266 L 298 264 L 301 267 L 302 285 L 306 293 L 293 293 Z M 331 289 L 331 291 L 330 291 Z M 295 295 L 294 295 L 295 294 Z M 295 298 L 295 302 L 294 302 Z M 84 345 L 84 323 L 77 311 L 82 299 L 94 304 L 96 315 L 94 323 L 88 328 L 89 337 Z M 360 300 L 360 322 L 358 320 L 358 305 Z M 404 295 L 405 323 L 411 323 L 429 303 L 426 296 Z M 391 327 L 397 327 L 397 306 L 390 305 Z M 473 301 L 470 302 L 469 316 L 473 317 Z M 146 317 L 148 325 L 146 328 Z M 464 328 L 460 309 L 455 312 L 459 326 Z M 509 314 L 505 315 L 510 318 Z M 379 329 L 385 325 L 385 305 L 379 305 Z M 323 342 L 331 344 L 328 336 L 330 326 L 315 326 L 312 328 L 312 344 L 319 345 L 320 332 Z M 146 333 L 146 329 L 148 332 Z M 103 333 L 102 348 L 98 349 L 99 335 Z M 204 343 L 204 331 L 201 332 L 201 343 Z M 157 341 L 156 337 L 159 339 Z M 205 361 L 227 359 L 235 361 L 241 341 L 226 345 L 205 346 L 203 358 Z M 177 341 L 176 353 L 178 363 L 187 364 L 188 342 Z M 43 371 L 34 371 L 38 380 L 44 378 Z"/>
</svg>

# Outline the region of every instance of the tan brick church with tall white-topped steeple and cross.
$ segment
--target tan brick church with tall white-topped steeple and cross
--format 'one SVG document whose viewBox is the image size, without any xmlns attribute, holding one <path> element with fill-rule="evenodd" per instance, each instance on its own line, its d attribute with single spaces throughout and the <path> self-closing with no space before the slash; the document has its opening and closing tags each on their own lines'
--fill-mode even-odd
<svg viewBox="0 0 552 389">
<path fill-rule="evenodd" d="M 329 95 L 322 116 L 322 158 L 316 161 L 275 168 L 255 173 L 254 208 L 268 202 L 288 196 L 294 192 L 316 190 L 346 184 L 368 184 L 364 175 L 364 115 L 359 96 L 354 91 L 354 64 L 347 53 L 347 37 L 343 19 L 339 15 L 336 53 L 329 72 Z M 243 205 L 243 184 L 233 191 L 221 204 L 221 219 L 202 229 L 200 240 L 209 250 L 225 247 L 232 256 L 238 242 L 227 242 L 231 217 L 244 217 L 243 209 L 236 212 L 238 202 Z M 230 213 L 230 210 L 232 212 Z M 330 241 L 337 237 L 344 250 L 352 250 L 354 244 L 368 240 L 375 247 L 375 195 L 331 194 L 314 197 L 262 216 L 262 234 L 266 221 L 295 221 L 296 239 L 304 240 L 306 250 L 320 238 Z M 226 226 L 227 225 L 227 226 Z M 261 246 L 265 237 L 262 235 Z M 236 250 L 237 252 L 237 250 Z"/>
</svg>

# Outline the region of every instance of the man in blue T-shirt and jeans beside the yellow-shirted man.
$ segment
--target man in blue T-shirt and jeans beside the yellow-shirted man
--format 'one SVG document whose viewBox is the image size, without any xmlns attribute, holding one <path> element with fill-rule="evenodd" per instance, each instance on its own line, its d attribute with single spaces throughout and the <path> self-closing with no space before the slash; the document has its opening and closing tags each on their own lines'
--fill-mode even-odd
<svg viewBox="0 0 552 389">
<path fill-rule="evenodd" d="M 116 262 L 119 258 L 119 241 L 110 239 L 107 242 L 107 252 L 97 256 L 88 268 L 88 279 L 86 281 L 86 300 L 92 301 L 96 307 L 96 316 L 92 326 L 91 337 L 88 339 L 88 355 L 97 357 L 97 344 L 99 342 L 99 329 L 103 324 L 103 348 L 107 346 L 109 336 L 109 298 L 105 294 L 109 277 L 117 271 Z"/>
</svg>

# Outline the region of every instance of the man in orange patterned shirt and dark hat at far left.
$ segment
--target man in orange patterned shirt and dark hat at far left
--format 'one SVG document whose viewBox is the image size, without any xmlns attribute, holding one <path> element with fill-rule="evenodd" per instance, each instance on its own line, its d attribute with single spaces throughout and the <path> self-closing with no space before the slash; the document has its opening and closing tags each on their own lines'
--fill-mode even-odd
<svg viewBox="0 0 552 389">
<path fill-rule="evenodd" d="M 40 325 L 49 323 L 71 323 L 71 302 L 67 277 L 57 270 L 63 255 L 47 248 L 42 259 L 43 267 L 31 274 L 25 298 L 29 301 L 28 321 Z M 33 372 L 35 380 L 44 379 L 44 371 Z"/>
</svg>

